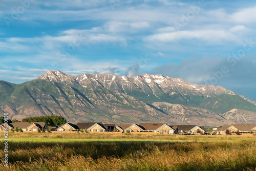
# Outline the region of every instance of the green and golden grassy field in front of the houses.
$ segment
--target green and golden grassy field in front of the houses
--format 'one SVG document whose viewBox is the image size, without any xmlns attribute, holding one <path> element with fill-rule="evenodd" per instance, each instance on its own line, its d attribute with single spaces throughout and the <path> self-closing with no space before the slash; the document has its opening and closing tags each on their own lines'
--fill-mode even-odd
<svg viewBox="0 0 256 171">
<path fill-rule="evenodd" d="M 256 136 L 9 133 L 8 156 L 0 170 L 256 170 Z"/>
</svg>

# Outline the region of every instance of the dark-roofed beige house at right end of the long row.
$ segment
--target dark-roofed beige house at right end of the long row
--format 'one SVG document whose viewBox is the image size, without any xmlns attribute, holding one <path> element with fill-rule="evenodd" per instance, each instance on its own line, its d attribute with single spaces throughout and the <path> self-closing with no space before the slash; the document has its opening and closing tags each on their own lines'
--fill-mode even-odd
<svg viewBox="0 0 256 171">
<path fill-rule="evenodd" d="M 174 125 L 173 129 L 175 130 L 175 134 L 185 133 L 185 134 L 198 134 L 197 131 L 200 130 L 200 134 L 204 134 L 204 127 L 200 127 L 198 125 Z"/>
</svg>

